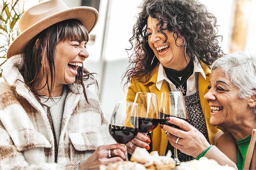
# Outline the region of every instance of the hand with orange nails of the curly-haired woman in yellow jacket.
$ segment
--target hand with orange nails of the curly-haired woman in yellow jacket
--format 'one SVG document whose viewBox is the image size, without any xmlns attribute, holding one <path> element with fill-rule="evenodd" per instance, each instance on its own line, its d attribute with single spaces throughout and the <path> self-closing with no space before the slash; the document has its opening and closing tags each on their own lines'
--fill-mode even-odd
<svg viewBox="0 0 256 170">
<path fill-rule="evenodd" d="M 133 140 L 126 144 L 127 152 L 132 155 L 136 147 L 146 148 L 146 150 L 149 150 L 150 142 L 151 140 L 148 135 L 144 135 L 139 132 Z"/>
</svg>

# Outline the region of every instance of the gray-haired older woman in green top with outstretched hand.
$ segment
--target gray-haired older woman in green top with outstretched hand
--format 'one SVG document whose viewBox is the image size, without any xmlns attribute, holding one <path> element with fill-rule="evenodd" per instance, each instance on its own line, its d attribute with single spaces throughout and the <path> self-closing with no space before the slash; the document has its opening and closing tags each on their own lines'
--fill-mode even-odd
<svg viewBox="0 0 256 170">
<path fill-rule="evenodd" d="M 256 55 L 237 52 L 216 60 L 208 89 L 204 98 L 211 106 L 210 124 L 222 130 L 215 146 L 187 122 L 171 117 L 168 121 L 183 130 L 161 125 L 169 142 L 197 159 L 206 156 L 221 165 L 256 169 Z"/>
</svg>

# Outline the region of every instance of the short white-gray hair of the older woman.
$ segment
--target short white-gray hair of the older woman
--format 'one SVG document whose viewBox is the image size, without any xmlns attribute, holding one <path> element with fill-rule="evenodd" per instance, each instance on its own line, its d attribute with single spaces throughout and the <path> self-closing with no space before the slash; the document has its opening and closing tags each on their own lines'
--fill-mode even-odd
<svg viewBox="0 0 256 170">
<path fill-rule="evenodd" d="M 241 51 L 224 55 L 212 64 L 212 71 L 216 68 L 220 68 L 238 87 L 238 96 L 241 99 L 256 94 L 256 55 Z"/>
</svg>

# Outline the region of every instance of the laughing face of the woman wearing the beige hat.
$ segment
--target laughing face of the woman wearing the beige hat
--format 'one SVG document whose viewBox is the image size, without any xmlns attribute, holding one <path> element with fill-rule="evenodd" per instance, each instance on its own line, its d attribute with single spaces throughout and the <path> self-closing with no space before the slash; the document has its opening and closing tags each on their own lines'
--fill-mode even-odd
<svg viewBox="0 0 256 170">
<path fill-rule="evenodd" d="M 85 41 L 64 41 L 56 45 L 55 73 L 56 85 L 72 84 L 75 82 L 77 69 L 83 66 L 87 53 Z"/>
</svg>

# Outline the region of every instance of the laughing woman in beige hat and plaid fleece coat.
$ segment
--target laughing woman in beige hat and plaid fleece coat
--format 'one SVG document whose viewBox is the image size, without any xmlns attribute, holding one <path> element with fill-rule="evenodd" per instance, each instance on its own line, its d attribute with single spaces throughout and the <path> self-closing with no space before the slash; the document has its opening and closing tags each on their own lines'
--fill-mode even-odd
<svg viewBox="0 0 256 170">
<path fill-rule="evenodd" d="M 83 67 L 96 9 L 50 0 L 20 18 L 0 79 L 0 169 L 99 169 L 125 158 Z M 81 161 L 81 162 L 80 162 Z"/>
</svg>

